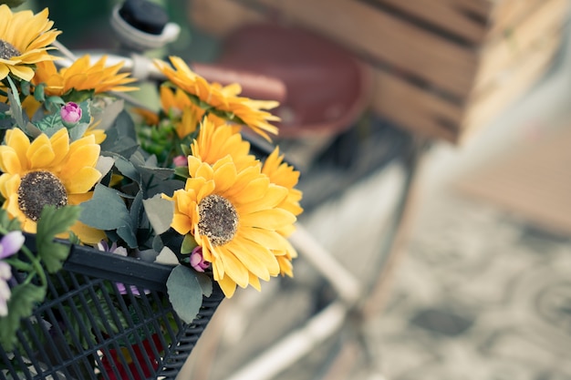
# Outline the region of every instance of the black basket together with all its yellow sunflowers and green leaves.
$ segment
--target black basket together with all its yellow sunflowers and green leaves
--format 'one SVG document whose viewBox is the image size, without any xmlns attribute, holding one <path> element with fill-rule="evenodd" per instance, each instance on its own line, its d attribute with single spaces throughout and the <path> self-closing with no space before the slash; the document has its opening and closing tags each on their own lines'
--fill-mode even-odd
<svg viewBox="0 0 571 380">
<path fill-rule="evenodd" d="M 292 276 L 299 173 L 243 138 L 277 104 L 171 56 L 134 107 L 59 34 L 0 5 L 0 379 L 174 376 L 224 297 Z"/>
</svg>

